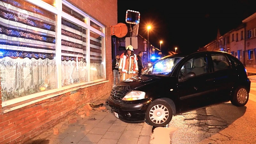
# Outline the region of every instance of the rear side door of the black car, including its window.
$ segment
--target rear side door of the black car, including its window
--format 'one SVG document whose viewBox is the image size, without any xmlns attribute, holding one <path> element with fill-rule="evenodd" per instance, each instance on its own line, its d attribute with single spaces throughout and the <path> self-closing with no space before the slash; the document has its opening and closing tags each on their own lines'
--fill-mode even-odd
<svg viewBox="0 0 256 144">
<path fill-rule="evenodd" d="M 237 71 L 231 67 L 230 60 L 225 54 L 213 53 L 211 61 L 216 93 L 212 100 L 215 102 L 226 101 L 238 79 Z"/>
</svg>

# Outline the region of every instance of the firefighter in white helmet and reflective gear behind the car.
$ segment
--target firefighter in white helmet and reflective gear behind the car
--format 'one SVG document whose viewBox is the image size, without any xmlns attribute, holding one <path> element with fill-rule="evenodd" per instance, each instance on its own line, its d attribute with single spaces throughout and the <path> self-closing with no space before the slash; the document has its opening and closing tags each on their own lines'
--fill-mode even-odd
<svg viewBox="0 0 256 144">
<path fill-rule="evenodd" d="M 124 81 L 132 76 L 138 75 L 137 56 L 133 52 L 132 45 L 126 47 L 126 51 L 121 54 L 118 70 L 120 72 L 120 81 Z"/>
</svg>

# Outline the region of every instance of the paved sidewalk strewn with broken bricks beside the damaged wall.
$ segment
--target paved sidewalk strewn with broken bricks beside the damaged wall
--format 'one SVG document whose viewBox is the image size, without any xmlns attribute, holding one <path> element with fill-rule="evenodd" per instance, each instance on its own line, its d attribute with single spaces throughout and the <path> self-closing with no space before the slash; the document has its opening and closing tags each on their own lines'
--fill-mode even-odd
<svg viewBox="0 0 256 144">
<path fill-rule="evenodd" d="M 108 97 L 96 102 L 106 106 Z M 25 144 L 150 144 L 152 126 L 145 122 L 125 123 L 117 119 L 108 106 L 106 110 L 96 109 L 85 117 L 74 113 Z M 59 134 L 53 128 L 59 130 Z"/>
</svg>

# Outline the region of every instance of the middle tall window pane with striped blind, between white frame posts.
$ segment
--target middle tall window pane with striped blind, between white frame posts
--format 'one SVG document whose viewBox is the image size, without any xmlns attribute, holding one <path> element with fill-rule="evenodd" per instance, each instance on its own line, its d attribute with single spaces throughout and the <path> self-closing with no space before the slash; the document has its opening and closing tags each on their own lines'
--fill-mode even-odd
<svg viewBox="0 0 256 144">
<path fill-rule="evenodd" d="M 87 30 L 63 18 L 61 28 L 61 85 L 87 82 Z"/>
</svg>

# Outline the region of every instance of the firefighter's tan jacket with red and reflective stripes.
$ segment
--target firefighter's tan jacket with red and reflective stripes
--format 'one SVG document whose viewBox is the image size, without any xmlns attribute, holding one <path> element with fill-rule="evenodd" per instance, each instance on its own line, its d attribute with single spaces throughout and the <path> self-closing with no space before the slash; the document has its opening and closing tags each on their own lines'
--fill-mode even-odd
<svg viewBox="0 0 256 144">
<path fill-rule="evenodd" d="M 136 54 L 129 56 L 126 52 L 122 53 L 119 60 L 119 72 L 127 74 L 138 73 L 138 58 Z"/>
</svg>

